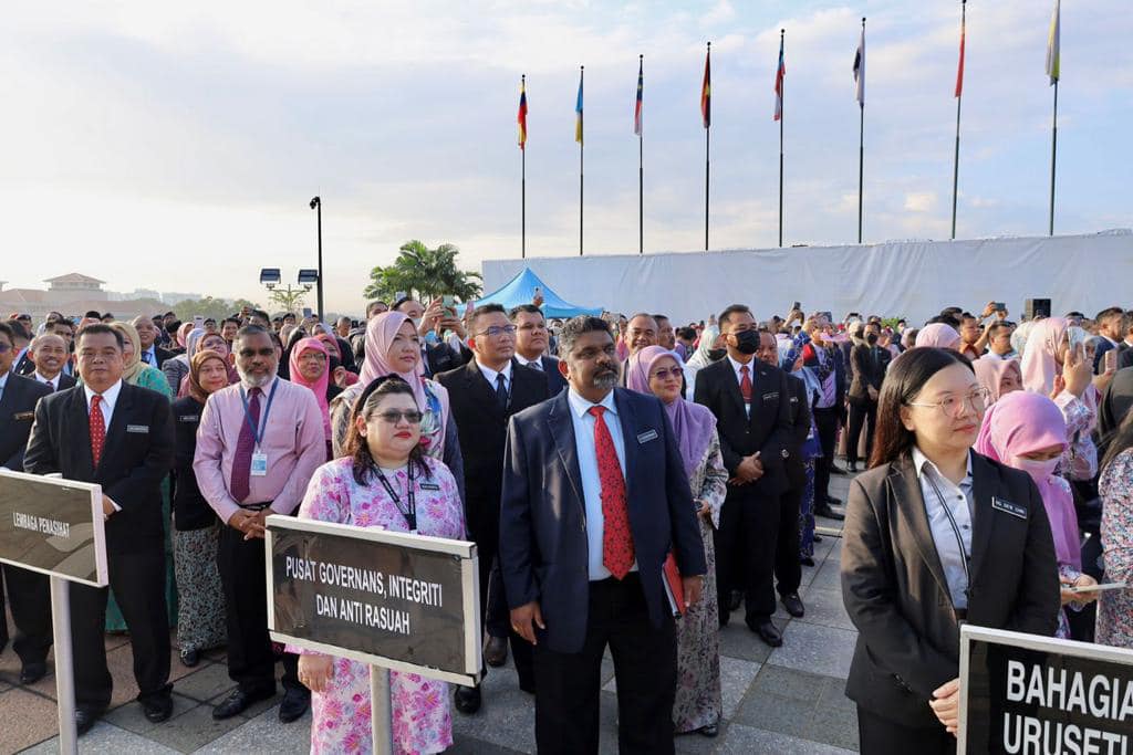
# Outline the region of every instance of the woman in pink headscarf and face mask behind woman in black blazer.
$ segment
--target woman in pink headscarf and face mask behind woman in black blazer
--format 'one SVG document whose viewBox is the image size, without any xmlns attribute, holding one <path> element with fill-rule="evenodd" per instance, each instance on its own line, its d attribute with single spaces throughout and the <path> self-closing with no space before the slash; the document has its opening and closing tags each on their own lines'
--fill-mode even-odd
<svg viewBox="0 0 1133 755">
<path fill-rule="evenodd" d="M 1062 602 L 1074 610 L 1097 598 L 1096 593 L 1073 593 L 1068 587 L 1088 587 L 1097 580 L 1082 573 L 1082 546 L 1077 513 L 1070 483 L 1055 474 L 1066 448 L 1066 421 L 1062 410 L 1038 393 L 1016 391 L 1000 398 L 983 417 L 976 451 L 995 461 L 1026 472 L 1042 497 L 1063 583 Z M 1058 637 L 1070 638 L 1065 610 L 1058 614 Z"/>
</svg>

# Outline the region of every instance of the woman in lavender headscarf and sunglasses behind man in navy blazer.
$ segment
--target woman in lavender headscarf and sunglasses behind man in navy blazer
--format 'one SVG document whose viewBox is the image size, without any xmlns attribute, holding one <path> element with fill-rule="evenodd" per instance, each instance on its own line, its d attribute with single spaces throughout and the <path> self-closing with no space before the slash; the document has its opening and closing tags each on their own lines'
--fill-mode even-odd
<svg viewBox="0 0 1133 755">
<path fill-rule="evenodd" d="M 719 683 L 719 608 L 716 601 L 716 558 L 713 531 L 727 495 L 727 470 L 719 451 L 716 418 L 707 407 L 681 398 L 683 370 L 678 357 L 662 346 L 646 346 L 630 357 L 630 391 L 653 394 L 665 404 L 673 424 L 684 472 L 689 477 L 700 522 L 708 570 L 704 593 L 676 621 L 676 698 L 673 730 L 715 737 L 723 714 Z"/>
</svg>

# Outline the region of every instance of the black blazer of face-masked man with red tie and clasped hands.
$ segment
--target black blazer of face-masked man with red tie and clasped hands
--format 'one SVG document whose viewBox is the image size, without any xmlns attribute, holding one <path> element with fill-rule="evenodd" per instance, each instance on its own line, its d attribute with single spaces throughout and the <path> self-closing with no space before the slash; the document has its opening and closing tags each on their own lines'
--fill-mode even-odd
<svg viewBox="0 0 1133 755">
<path fill-rule="evenodd" d="M 777 367 L 751 360 L 751 417 L 744 414 L 740 383 L 732 360 L 725 358 L 697 372 L 696 402 L 716 415 L 719 449 L 724 467 L 734 477 L 744 456 L 759 452 L 764 475 L 751 484 L 731 488 L 730 492 L 777 496 L 786 490 L 784 452 L 790 455 L 791 385 Z"/>
</svg>

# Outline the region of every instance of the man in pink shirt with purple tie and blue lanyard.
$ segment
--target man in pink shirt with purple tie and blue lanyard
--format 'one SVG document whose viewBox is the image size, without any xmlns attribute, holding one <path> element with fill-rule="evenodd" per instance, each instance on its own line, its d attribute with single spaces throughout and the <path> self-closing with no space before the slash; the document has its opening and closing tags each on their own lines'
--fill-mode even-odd
<svg viewBox="0 0 1133 755">
<path fill-rule="evenodd" d="M 275 375 L 267 332 L 240 329 L 233 343 L 240 383 L 208 396 L 193 469 L 205 500 L 225 526 L 216 565 L 228 611 L 228 675 L 236 690 L 214 711 L 227 719 L 275 695 L 275 659 L 267 634 L 264 520 L 291 514 L 326 460 L 323 418 L 308 388 Z M 299 683 L 298 657 L 283 657 L 280 720 L 301 717 L 310 693 Z"/>
</svg>

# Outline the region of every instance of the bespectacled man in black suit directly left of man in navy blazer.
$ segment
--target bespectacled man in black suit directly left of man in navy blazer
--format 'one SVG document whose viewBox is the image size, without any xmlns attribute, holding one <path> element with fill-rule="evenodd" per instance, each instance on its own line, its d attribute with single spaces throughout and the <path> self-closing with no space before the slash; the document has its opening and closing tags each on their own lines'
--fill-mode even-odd
<svg viewBox="0 0 1133 755">
<path fill-rule="evenodd" d="M 500 487 L 508 420 L 546 401 L 547 380 L 543 374 L 514 361 L 516 326 L 503 307 L 477 307 L 471 328 L 475 359 L 465 367 L 442 372 L 436 379 L 449 389 L 449 405 L 465 457 L 465 520 L 479 554 L 480 616 L 485 617 L 491 635 L 485 660 L 502 662 L 501 655 L 506 658 L 510 635 L 519 686 L 526 692 L 535 692 L 531 646 L 519 635 L 509 633 L 506 603 L 502 611 L 496 607 L 493 614 L 491 603 L 496 602 L 496 595 L 491 595 L 489 603 L 489 593 L 499 593 L 503 586 L 499 575 L 494 580 L 492 575 L 497 573 L 493 561 L 500 547 Z M 504 602 L 502 597 L 500 602 Z M 492 618 L 496 620 L 489 620 Z M 462 713 L 475 713 L 480 706 L 480 688 L 457 687 L 455 704 Z"/>
</svg>

